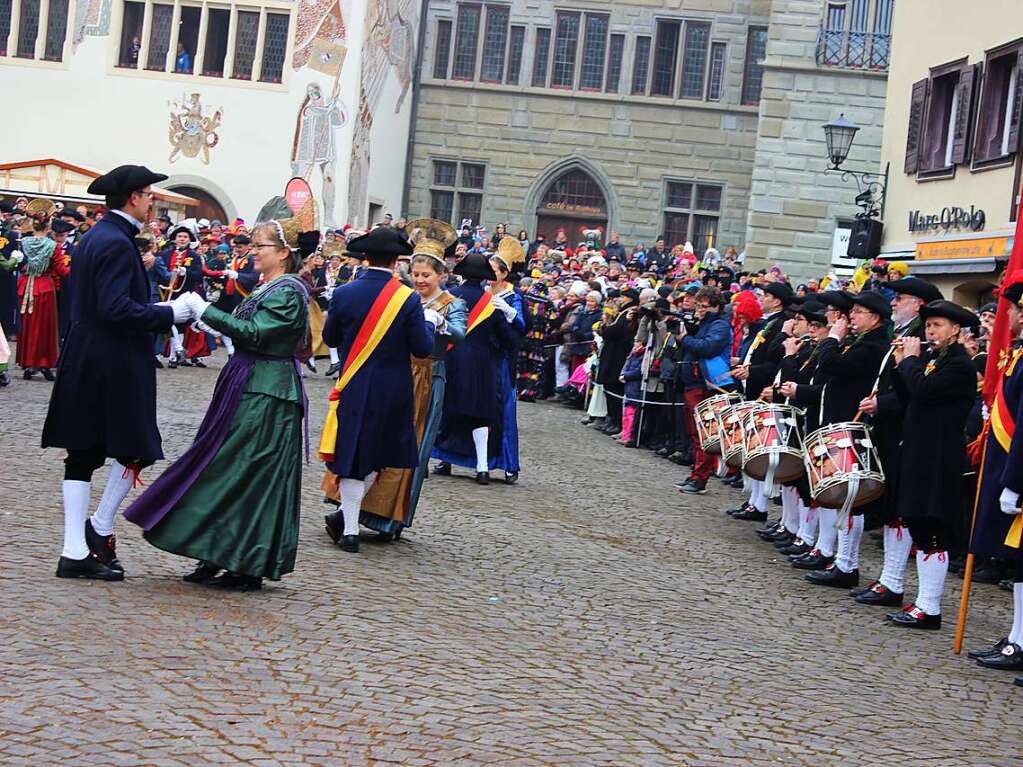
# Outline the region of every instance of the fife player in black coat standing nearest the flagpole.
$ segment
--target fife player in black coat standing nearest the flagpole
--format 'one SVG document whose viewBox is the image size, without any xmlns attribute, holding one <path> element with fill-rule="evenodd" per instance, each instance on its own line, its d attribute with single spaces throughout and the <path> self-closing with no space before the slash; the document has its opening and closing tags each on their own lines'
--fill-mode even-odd
<svg viewBox="0 0 1023 767">
<path fill-rule="evenodd" d="M 966 421 L 977 394 L 977 373 L 959 335 L 978 320 L 973 312 L 942 300 L 929 303 L 920 316 L 926 324 L 926 351 L 915 335 L 903 336 L 895 347 L 906 399 L 897 512 L 913 536 L 919 586 L 917 598 L 888 618 L 896 626 L 938 629 L 948 574 L 948 530 L 962 513 Z"/>
</svg>

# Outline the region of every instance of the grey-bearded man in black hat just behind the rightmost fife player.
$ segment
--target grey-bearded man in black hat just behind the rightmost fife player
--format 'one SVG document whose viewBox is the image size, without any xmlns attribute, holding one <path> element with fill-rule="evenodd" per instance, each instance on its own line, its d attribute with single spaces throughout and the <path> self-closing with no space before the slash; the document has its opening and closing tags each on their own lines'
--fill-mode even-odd
<svg viewBox="0 0 1023 767">
<path fill-rule="evenodd" d="M 888 287 L 895 292 L 891 301 L 895 339 L 924 340 L 921 309 L 929 302 L 939 301 L 941 291 L 920 277 L 903 277 L 889 282 Z M 895 359 L 889 352 L 881 368 L 876 394 L 859 403 L 859 409 L 870 416 L 871 438 L 885 469 L 885 494 L 871 504 L 871 509 L 877 511 L 884 525 L 884 568 L 876 581 L 850 592 L 861 604 L 901 606 L 902 576 L 913 548 L 913 538 L 899 518 L 896 503 L 902 473 L 899 446 L 902 444 L 902 420 L 907 402 L 904 388 L 895 384 Z"/>
</svg>

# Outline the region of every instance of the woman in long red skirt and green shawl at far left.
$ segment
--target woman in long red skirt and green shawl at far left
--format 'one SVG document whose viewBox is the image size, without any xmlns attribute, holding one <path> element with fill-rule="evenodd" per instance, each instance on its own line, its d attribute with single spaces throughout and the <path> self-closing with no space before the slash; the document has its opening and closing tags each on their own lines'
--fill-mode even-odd
<svg viewBox="0 0 1023 767">
<path fill-rule="evenodd" d="M 42 372 L 53 380 L 57 366 L 57 281 L 68 276 L 61 258 L 54 259 L 56 243 L 46 236 L 45 221 L 32 224 L 32 235 L 21 239 L 25 265 L 17 280 L 21 332 L 17 336 L 17 364 L 28 380 Z"/>
</svg>

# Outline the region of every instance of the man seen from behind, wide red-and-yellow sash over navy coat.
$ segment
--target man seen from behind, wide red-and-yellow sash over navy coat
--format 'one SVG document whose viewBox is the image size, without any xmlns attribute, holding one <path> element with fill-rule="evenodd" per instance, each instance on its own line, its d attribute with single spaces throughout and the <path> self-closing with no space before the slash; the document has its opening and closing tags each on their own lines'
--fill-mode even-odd
<svg viewBox="0 0 1023 767">
<path fill-rule="evenodd" d="M 336 348 L 344 363 L 330 395 L 337 409 L 324 426 L 337 437 L 321 440 L 320 454 L 340 478 L 341 510 L 326 515 L 327 534 L 354 553 L 362 499 L 377 472 L 419 463 L 409 358 L 430 355 L 441 319 L 432 310 L 425 317 L 418 295 L 394 277 L 398 257 L 412 253 L 404 232 L 380 226 L 353 239 L 348 250 L 362 255 L 369 267 L 330 297 L 323 343 Z M 330 442 L 326 449 L 324 441 Z"/>
</svg>

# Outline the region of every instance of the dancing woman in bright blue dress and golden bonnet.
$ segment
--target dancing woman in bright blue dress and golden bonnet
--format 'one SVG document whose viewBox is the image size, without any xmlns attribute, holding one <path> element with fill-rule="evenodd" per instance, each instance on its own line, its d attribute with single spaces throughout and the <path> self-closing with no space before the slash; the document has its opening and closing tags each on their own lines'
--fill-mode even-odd
<svg viewBox="0 0 1023 767">
<path fill-rule="evenodd" d="M 508 277 L 526 263 L 526 253 L 519 240 L 511 237 L 501 237 L 497 246 L 497 255 L 490 259 L 497 279 L 490 283 L 489 292 L 503 300 L 515 310 L 515 316 L 508 317 L 514 342 L 502 350 L 500 365 L 497 369 L 498 388 L 502 403 L 503 422 L 501 426 L 501 452 L 491 469 L 504 470 L 504 483 L 515 485 L 519 481 L 519 392 L 516 387 L 516 363 L 519 356 L 519 343 L 526 334 L 526 314 L 522 306 L 522 296 L 516 290 Z"/>
</svg>

